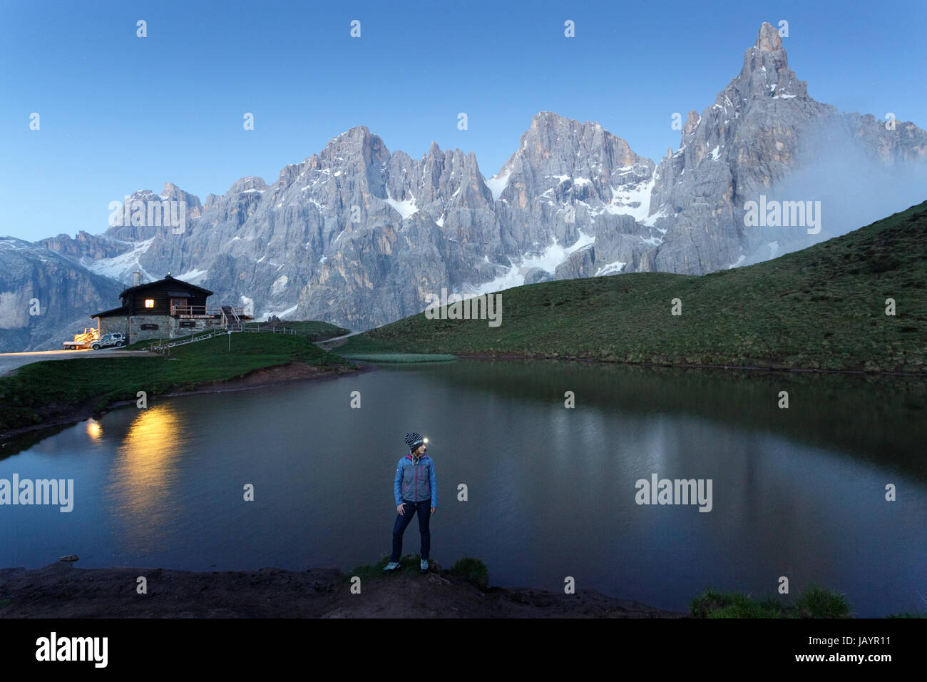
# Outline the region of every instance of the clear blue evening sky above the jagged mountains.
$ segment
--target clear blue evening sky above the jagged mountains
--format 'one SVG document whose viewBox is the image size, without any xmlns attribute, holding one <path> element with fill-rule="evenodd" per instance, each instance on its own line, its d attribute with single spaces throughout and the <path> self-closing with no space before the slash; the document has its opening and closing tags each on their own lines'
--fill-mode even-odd
<svg viewBox="0 0 927 682">
<path fill-rule="evenodd" d="M 102 232 L 110 201 L 168 181 L 203 200 L 247 175 L 273 183 L 354 125 L 413 158 L 432 140 L 473 150 L 489 177 L 531 117 L 552 110 L 601 122 L 658 160 L 679 145 L 673 112 L 714 101 L 764 20 L 789 22 L 789 63 L 811 97 L 927 127 L 922 0 L 3 0 L 0 10 L 0 235 L 29 240 Z"/>
</svg>

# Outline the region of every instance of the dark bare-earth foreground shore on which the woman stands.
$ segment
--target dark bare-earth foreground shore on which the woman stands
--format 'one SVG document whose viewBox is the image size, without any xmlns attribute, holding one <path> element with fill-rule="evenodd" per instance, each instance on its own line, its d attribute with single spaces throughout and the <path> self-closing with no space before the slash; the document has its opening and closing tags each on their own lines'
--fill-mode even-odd
<svg viewBox="0 0 927 682">
<path fill-rule="evenodd" d="M 578 587 L 481 589 L 432 561 L 432 570 L 363 578 L 351 593 L 337 568 L 191 572 L 59 560 L 0 569 L 0 618 L 689 618 Z M 146 593 L 137 592 L 138 578 Z M 410 598 L 413 594 L 415 598 Z"/>
</svg>

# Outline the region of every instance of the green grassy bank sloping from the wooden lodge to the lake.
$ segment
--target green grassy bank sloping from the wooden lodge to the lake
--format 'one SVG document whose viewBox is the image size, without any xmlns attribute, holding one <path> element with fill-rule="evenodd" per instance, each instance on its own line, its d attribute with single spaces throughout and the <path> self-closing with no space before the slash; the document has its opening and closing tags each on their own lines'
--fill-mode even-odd
<svg viewBox="0 0 927 682">
<path fill-rule="evenodd" d="M 67 418 L 81 408 L 99 411 L 121 400 L 135 400 L 138 391 L 150 397 L 188 390 L 291 362 L 345 364 L 338 355 L 295 334 L 237 333 L 231 341 L 231 352 L 228 338 L 221 336 L 171 348 L 170 358 L 74 358 L 19 367 L 0 378 L 0 432 Z"/>
</svg>

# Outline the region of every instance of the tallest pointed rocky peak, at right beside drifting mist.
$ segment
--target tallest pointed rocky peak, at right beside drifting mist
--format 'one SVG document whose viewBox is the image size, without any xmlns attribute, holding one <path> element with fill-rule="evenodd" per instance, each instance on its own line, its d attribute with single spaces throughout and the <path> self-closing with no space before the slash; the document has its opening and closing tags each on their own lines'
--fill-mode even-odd
<svg viewBox="0 0 927 682">
<path fill-rule="evenodd" d="M 661 161 L 647 222 L 662 236 L 641 267 L 700 275 L 806 246 L 801 234 L 744 229 L 745 202 L 779 191 L 797 169 L 815 168 L 819 151 L 831 146 L 852 141 L 872 162 L 891 164 L 911 158 L 918 139 L 927 138 L 916 128 L 902 137 L 874 122 L 809 97 L 779 32 L 764 22 L 740 73 L 701 117 L 689 114 L 679 149 Z"/>
</svg>

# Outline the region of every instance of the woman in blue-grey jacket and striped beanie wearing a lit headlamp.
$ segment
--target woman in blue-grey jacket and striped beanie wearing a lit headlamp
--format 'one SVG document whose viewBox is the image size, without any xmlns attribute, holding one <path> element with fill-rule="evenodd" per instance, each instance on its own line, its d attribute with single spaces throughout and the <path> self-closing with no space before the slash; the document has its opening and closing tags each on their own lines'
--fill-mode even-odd
<svg viewBox="0 0 927 682">
<path fill-rule="evenodd" d="M 438 484 L 435 481 L 435 463 L 425 455 L 427 446 L 420 434 L 406 433 L 405 443 L 409 454 L 402 457 L 393 480 L 393 497 L 396 499 L 396 521 L 393 523 L 393 551 L 383 573 L 392 573 L 400 567 L 402 534 L 418 512 L 418 530 L 422 534 L 422 573 L 428 573 L 428 556 L 431 552 L 431 532 L 428 521 L 438 507 Z M 430 508 L 429 508 L 430 507 Z"/>
</svg>

